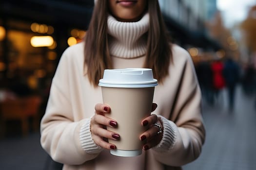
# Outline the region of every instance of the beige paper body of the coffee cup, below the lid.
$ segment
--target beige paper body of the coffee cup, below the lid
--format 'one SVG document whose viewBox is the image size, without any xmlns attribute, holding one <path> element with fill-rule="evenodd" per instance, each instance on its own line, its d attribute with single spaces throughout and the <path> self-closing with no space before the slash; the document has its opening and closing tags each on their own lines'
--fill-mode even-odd
<svg viewBox="0 0 256 170">
<path fill-rule="evenodd" d="M 115 144 L 117 150 L 141 150 L 139 136 L 147 130 L 141 121 L 151 114 L 155 87 L 101 88 L 103 102 L 111 108 L 110 114 L 105 116 L 118 122 L 117 128 L 107 129 L 120 135 L 119 140 L 109 139 L 109 143 Z"/>
</svg>

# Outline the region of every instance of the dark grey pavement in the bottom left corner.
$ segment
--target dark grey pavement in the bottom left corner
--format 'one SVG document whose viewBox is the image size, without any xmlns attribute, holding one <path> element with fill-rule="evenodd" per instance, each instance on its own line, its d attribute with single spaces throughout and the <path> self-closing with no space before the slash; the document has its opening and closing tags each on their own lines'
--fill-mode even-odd
<svg viewBox="0 0 256 170">
<path fill-rule="evenodd" d="M 45 170 L 47 154 L 39 132 L 0 140 L 0 170 Z"/>
</svg>

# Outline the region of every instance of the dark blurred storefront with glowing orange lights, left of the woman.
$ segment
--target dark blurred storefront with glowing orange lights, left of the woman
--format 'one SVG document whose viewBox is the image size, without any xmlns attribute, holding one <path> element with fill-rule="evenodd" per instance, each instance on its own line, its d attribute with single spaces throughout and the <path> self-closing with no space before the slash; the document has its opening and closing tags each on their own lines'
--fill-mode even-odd
<svg viewBox="0 0 256 170">
<path fill-rule="evenodd" d="M 93 6 L 94 0 L 0 1 L 0 137 L 39 129 L 60 56 L 86 34 Z"/>
</svg>

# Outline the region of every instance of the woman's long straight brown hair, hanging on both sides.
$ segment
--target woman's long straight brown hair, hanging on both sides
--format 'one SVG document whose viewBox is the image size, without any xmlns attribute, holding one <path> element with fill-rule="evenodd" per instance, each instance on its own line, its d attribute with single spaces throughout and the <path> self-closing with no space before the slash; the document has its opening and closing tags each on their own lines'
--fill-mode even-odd
<svg viewBox="0 0 256 170">
<path fill-rule="evenodd" d="M 158 0 L 147 0 L 150 18 L 147 33 L 147 53 L 144 68 L 152 68 L 154 78 L 162 82 L 168 75 L 172 60 L 171 42 Z M 107 41 L 108 1 L 98 0 L 85 36 L 84 64 L 87 66 L 89 81 L 98 85 L 104 69 L 113 68 Z"/>
</svg>

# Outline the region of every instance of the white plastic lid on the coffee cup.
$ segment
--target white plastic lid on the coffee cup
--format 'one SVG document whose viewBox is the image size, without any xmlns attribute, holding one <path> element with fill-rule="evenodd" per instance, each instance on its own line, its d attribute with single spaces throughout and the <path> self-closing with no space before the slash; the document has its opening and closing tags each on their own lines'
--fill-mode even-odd
<svg viewBox="0 0 256 170">
<path fill-rule="evenodd" d="M 104 87 L 153 87 L 158 80 L 153 78 L 150 68 L 105 69 L 99 86 Z"/>
</svg>

